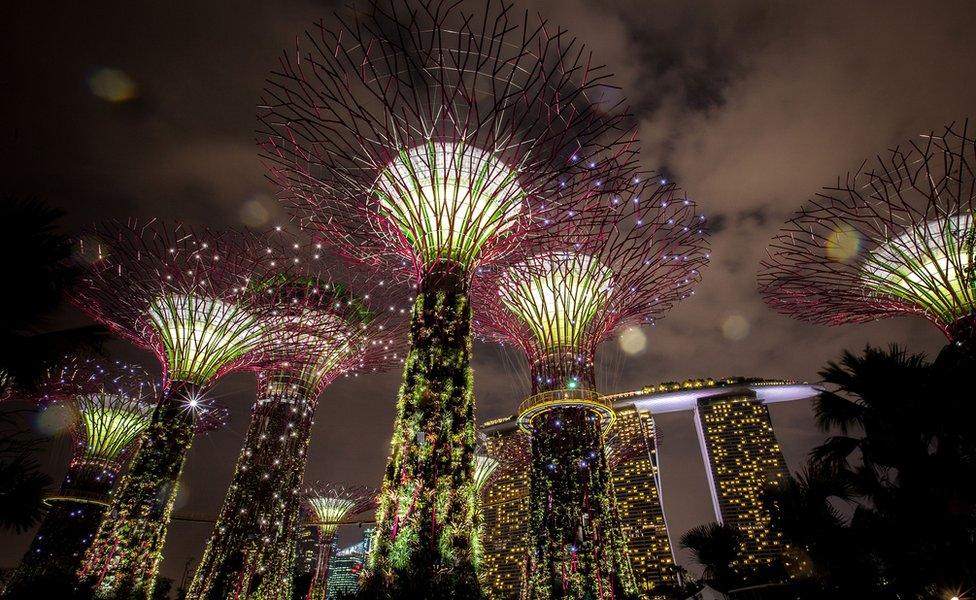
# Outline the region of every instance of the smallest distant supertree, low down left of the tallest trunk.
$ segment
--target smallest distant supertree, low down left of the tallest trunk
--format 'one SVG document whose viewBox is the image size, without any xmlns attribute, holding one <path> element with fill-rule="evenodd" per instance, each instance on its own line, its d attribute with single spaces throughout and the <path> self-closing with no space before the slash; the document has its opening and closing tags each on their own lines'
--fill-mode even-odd
<svg viewBox="0 0 976 600">
<path fill-rule="evenodd" d="M 366 487 L 314 483 L 304 492 L 308 525 L 318 530 L 315 572 L 309 583 L 306 600 L 325 600 L 329 587 L 329 561 L 332 544 L 346 517 L 376 507 L 376 490 Z"/>
</svg>

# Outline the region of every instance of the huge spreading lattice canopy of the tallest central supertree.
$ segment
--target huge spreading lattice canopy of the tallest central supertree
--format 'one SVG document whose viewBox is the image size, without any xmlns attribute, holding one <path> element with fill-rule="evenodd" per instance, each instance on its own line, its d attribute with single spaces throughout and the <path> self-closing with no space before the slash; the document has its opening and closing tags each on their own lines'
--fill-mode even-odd
<svg viewBox="0 0 976 600">
<path fill-rule="evenodd" d="M 501 2 L 370 2 L 282 56 L 271 176 L 340 253 L 412 283 L 511 262 L 571 224 L 634 127 L 569 34 Z"/>
</svg>

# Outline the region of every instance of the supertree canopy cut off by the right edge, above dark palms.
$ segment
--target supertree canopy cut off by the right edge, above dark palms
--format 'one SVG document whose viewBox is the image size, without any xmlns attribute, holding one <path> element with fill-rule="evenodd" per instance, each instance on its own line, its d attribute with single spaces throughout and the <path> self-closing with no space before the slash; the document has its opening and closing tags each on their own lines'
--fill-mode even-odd
<svg viewBox="0 0 976 600">
<path fill-rule="evenodd" d="M 759 274 L 766 302 L 829 325 L 915 314 L 972 350 L 974 168 L 966 122 L 824 188 L 770 244 Z"/>
</svg>

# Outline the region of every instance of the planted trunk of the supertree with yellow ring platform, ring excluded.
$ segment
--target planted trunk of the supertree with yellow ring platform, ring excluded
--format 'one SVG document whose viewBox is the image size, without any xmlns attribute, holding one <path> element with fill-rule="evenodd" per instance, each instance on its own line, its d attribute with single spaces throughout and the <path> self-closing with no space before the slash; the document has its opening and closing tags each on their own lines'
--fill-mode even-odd
<svg viewBox="0 0 976 600">
<path fill-rule="evenodd" d="M 533 371 L 537 394 L 596 396 L 589 361 L 557 358 L 535 365 Z M 532 420 L 526 574 L 531 600 L 637 597 L 603 426 L 592 408 L 572 403 L 557 404 Z"/>
</svg>

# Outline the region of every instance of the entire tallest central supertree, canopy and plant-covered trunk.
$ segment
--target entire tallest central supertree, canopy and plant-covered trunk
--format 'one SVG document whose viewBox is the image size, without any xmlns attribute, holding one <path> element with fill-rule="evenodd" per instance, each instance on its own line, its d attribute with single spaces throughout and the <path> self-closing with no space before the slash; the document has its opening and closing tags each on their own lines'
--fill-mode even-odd
<svg viewBox="0 0 976 600">
<path fill-rule="evenodd" d="M 501 1 L 374 1 L 283 55 L 272 176 L 321 239 L 416 290 L 366 590 L 477 597 L 469 286 L 546 244 L 632 132 L 570 35 Z"/>
</svg>

